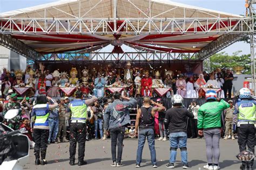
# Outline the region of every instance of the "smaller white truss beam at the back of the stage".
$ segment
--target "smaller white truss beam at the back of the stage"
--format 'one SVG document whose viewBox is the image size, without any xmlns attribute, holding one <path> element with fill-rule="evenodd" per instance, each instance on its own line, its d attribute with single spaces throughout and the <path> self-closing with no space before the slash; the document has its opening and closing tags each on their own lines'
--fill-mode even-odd
<svg viewBox="0 0 256 170">
<path fill-rule="evenodd" d="M 148 52 L 91 52 L 91 53 L 52 53 L 50 55 L 42 55 L 37 61 L 159 61 L 166 62 L 168 60 L 177 59 L 196 59 L 192 53 L 148 53 Z"/>
</svg>

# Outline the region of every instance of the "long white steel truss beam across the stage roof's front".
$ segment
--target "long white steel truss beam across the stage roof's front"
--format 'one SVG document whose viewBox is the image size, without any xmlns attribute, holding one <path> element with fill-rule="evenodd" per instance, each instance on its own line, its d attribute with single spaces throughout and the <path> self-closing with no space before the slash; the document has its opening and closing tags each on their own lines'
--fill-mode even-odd
<svg viewBox="0 0 256 170">
<path fill-rule="evenodd" d="M 111 29 L 110 23 L 123 23 Z M 0 33 L 160 34 L 251 33 L 248 18 L 0 18 Z M 234 24 L 235 23 L 235 24 Z"/>
</svg>

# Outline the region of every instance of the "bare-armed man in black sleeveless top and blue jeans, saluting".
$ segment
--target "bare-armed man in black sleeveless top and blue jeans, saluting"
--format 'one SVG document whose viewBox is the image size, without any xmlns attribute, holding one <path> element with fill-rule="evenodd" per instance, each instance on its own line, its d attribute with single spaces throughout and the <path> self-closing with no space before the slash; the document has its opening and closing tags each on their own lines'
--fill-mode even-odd
<svg viewBox="0 0 256 170">
<path fill-rule="evenodd" d="M 150 103 L 157 105 L 158 107 L 153 107 Z M 139 127 L 139 136 L 138 136 L 138 149 L 137 149 L 137 159 L 136 167 L 140 167 L 142 162 L 142 151 L 147 138 L 147 143 L 149 144 L 151 163 L 153 168 L 157 168 L 157 159 L 156 159 L 156 149 L 154 148 L 154 114 L 165 110 L 163 105 L 160 105 L 153 100 L 150 100 L 149 97 L 143 98 L 143 106 L 138 110 L 135 123 L 135 134 L 138 133 Z"/>
</svg>

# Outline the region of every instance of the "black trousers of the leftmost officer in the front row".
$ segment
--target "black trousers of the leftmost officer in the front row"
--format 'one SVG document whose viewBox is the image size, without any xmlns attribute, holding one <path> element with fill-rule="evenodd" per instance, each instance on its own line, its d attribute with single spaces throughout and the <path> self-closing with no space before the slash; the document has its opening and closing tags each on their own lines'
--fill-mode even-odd
<svg viewBox="0 0 256 170">
<path fill-rule="evenodd" d="M 39 149 L 46 149 L 49 138 L 49 130 L 34 128 L 33 131 L 35 140 L 35 151 L 38 151 Z"/>
</svg>

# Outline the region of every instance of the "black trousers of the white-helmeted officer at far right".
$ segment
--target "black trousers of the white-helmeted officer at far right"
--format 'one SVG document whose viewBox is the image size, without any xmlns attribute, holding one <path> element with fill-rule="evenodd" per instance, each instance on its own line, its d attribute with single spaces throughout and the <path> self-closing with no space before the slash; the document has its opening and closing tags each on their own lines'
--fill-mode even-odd
<svg viewBox="0 0 256 170">
<path fill-rule="evenodd" d="M 255 130 L 254 130 L 254 125 L 252 124 L 244 124 L 240 125 L 238 128 L 238 144 L 239 144 L 239 150 L 240 152 L 246 150 L 246 145 L 247 149 L 249 151 L 252 151 L 254 153 L 254 141 L 255 140 Z M 242 165 L 251 165 L 253 166 L 253 160 L 250 162 L 242 161 Z"/>
</svg>

